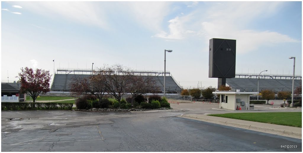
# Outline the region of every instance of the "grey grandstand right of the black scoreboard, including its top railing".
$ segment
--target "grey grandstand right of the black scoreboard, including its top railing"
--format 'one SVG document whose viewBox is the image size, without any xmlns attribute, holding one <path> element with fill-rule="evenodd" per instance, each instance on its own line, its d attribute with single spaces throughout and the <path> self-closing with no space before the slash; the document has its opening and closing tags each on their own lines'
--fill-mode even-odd
<svg viewBox="0 0 303 153">
<path fill-rule="evenodd" d="M 295 76 L 294 89 L 302 85 L 302 77 Z M 236 73 L 235 78 L 227 78 L 226 84 L 232 89 L 240 89 L 240 91 L 257 92 L 258 90 L 258 74 L 241 74 Z M 260 76 L 259 92 L 263 89 L 270 89 L 275 92 L 291 91 L 292 76 L 290 75 L 271 75 L 264 74 Z"/>
</svg>

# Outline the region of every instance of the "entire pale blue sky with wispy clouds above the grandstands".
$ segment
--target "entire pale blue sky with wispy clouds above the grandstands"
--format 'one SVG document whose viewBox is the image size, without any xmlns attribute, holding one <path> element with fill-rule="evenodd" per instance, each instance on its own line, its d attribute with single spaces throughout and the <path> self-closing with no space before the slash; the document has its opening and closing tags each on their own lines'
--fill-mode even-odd
<svg viewBox="0 0 303 153">
<path fill-rule="evenodd" d="M 302 2 L 1 2 L 1 81 L 22 67 L 122 64 L 166 70 L 183 88 L 208 78 L 209 39 L 236 39 L 236 73 L 302 71 Z M 53 62 L 54 60 L 54 62 Z"/>
</svg>

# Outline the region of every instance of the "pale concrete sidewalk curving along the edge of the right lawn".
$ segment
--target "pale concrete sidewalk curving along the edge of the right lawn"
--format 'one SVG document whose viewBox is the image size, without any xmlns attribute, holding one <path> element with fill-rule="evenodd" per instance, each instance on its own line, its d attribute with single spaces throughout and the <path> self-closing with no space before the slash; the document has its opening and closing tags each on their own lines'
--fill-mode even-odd
<svg viewBox="0 0 303 153">
<path fill-rule="evenodd" d="M 226 126 L 238 127 L 247 130 L 253 130 L 263 133 L 276 134 L 281 136 L 287 136 L 291 138 L 302 139 L 302 128 L 253 122 L 247 120 L 237 120 L 224 117 L 207 116 L 207 114 L 182 114 L 177 117 L 183 117 L 193 120 L 200 120 L 210 123 L 216 123 Z"/>
</svg>

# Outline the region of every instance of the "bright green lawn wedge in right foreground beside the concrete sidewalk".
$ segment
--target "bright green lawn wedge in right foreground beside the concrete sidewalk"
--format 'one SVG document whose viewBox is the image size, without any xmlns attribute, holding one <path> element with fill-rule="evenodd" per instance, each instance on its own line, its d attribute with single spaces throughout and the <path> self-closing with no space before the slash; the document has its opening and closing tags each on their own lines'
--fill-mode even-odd
<svg viewBox="0 0 303 153">
<path fill-rule="evenodd" d="M 209 116 L 302 127 L 302 112 L 227 113 L 227 114 L 209 114 Z"/>
</svg>

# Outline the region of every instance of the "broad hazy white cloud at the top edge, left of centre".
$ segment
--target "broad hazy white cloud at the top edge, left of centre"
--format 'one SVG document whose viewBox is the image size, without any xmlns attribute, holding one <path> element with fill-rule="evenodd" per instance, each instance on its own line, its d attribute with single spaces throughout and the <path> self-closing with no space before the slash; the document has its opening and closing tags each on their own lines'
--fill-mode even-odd
<svg viewBox="0 0 303 153">
<path fill-rule="evenodd" d="M 24 9 L 51 18 L 64 18 L 74 22 L 108 28 L 106 11 L 97 2 L 18 2 Z"/>
</svg>

